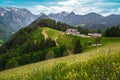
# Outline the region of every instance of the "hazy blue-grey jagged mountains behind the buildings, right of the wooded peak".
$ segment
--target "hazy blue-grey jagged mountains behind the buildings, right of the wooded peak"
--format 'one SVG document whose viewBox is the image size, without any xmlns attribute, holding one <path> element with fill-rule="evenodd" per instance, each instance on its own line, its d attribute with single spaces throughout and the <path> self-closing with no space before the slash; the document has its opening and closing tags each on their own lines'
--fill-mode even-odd
<svg viewBox="0 0 120 80">
<path fill-rule="evenodd" d="M 120 25 L 120 15 L 102 16 L 96 13 L 86 15 L 77 15 L 74 12 L 51 13 L 48 15 L 51 19 L 67 23 L 72 26 L 79 25 L 92 30 L 105 30 L 111 26 Z"/>
</svg>

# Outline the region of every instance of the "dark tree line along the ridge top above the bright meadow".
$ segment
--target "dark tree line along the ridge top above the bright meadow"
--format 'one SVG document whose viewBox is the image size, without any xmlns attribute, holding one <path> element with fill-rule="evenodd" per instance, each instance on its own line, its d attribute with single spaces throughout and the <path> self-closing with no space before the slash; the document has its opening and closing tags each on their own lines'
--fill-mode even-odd
<svg viewBox="0 0 120 80">
<path fill-rule="evenodd" d="M 51 19 L 38 19 L 34 21 L 29 26 L 36 26 L 36 27 L 49 27 L 59 31 L 66 31 L 69 28 L 74 28 L 66 23 L 61 23 L 59 21 L 51 20 Z"/>
</svg>

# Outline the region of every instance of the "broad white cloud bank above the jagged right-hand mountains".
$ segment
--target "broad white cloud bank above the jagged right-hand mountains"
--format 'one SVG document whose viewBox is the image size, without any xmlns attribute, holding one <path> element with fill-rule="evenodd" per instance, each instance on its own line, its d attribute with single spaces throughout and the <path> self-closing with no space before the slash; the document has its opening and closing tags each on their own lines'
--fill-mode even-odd
<svg viewBox="0 0 120 80">
<path fill-rule="evenodd" d="M 65 2 L 58 2 L 56 5 L 51 6 L 43 6 L 43 5 L 35 5 L 29 10 L 31 10 L 34 14 L 40 14 L 40 12 L 49 14 L 49 13 L 57 13 L 61 11 L 71 12 L 74 11 L 77 14 L 87 14 L 90 12 L 100 13 L 104 16 L 109 14 L 120 14 L 119 9 L 110 9 L 107 12 L 105 11 L 104 6 L 112 6 L 118 5 L 118 3 L 104 3 L 102 0 L 66 0 Z"/>
</svg>

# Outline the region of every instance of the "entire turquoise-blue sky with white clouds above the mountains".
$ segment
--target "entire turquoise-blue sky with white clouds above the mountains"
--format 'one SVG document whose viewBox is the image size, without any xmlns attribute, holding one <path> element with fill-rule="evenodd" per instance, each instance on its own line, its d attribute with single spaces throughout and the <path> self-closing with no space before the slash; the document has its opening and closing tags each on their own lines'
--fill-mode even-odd
<svg viewBox="0 0 120 80">
<path fill-rule="evenodd" d="M 120 15 L 120 0 L 0 0 L 0 7 L 27 8 L 34 14 L 74 11 L 81 15 L 90 12 Z"/>
</svg>

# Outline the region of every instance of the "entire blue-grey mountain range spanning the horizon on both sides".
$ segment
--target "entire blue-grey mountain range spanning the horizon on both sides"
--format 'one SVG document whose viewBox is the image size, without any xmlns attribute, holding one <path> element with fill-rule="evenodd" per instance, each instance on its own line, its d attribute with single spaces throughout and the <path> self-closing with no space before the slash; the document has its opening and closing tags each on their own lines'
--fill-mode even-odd
<svg viewBox="0 0 120 80">
<path fill-rule="evenodd" d="M 102 16 L 96 13 L 86 15 L 75 14 L 74 12 L 50 13 L 48 15 L 41 13 L 32 14 L 25 8 L 0 7 L 0 37 L 11 35 L 20 28 L 27 26 L 37 18 L 50 18 L 56 21 L 67 23 L 71 26 L 81 26 L 91 30 L 105 30 L 111 26 L 120 25 L 120 15 Z"/>
</svg>

